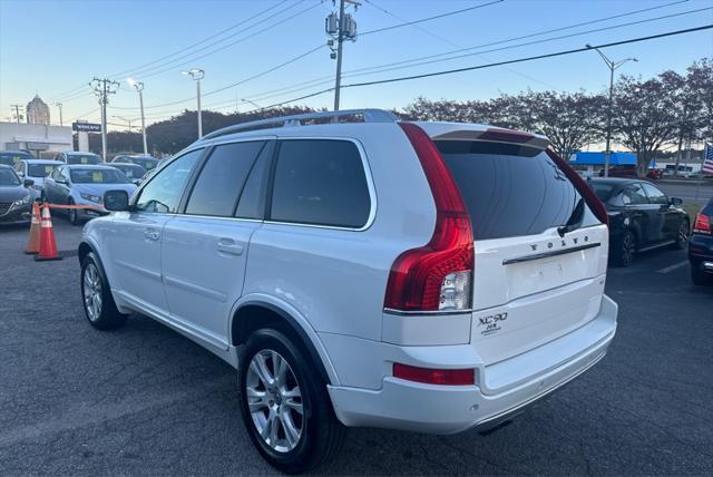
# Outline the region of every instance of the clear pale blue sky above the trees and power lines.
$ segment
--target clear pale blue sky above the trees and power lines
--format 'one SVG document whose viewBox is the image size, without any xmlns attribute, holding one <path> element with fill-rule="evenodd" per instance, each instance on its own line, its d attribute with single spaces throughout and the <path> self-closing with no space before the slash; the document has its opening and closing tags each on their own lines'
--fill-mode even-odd
<svg viewBox="0 0 713 477">
<path fill-rule="evenodd" d="M 344 42 L 343 84 L 486 65 L 713 23 L 713 0 L 359 2 L 355 11 L 353 6 L 348 8 L 359 37 Z M 127 78 L 144 82 L 145 114 L 152 124 L 195 109 L 196 85 L 180 75 L 189 68 L 205 70 L 204 109 L 247 111 L 310 95 L 334 82 L 335 61 L 330 59 L 324 32 L 324 19 L 334 10 L 331 0 L 0 0 L 0 120 L 10 119 L 10 105 L 25 106 L 39 94 L 51 105 L 52 124 L 59 124 L 55 103 L 62 103 L 65 125 L 76 119 L 98 123 L 99 105 L 87 86 L 98 77 L 120 85 L 109 96 L 110 130 L 126 129 L 128 120 L 133 127 L 139 124 L 138 95 Z M 685 13 L 692 10 L 700 11 Z M 370 32 L 434 16 L 442 17 Z M 604 20 L 613 16 L 619 17 Z M 644 21 L 657 17 L 666 18 Z M 588 25 L 568 28 L 584 22 Z M 638 23 L 609 28 L 632 22 Z M 479 48 L 451 55 L 458 58 L 436 56 L 472 47 Z M 649 78 L 667 69 L 684 72 L 693 61 L 713 57 L 713 30 L 604 51 L 615 60 L 637 58 L 617 75 Z M 430 58 L 420 65 L 400 64 L 421 57 Z M 402 108 L 418 97 L 488 99 L 528 88 L 599 93 L 608 87 L 608 76 L 599 56 L 584 51 L 346 88 L 341 107 Z M 331 109 L 333 93 L 291 104 Z"/>
</svg>

